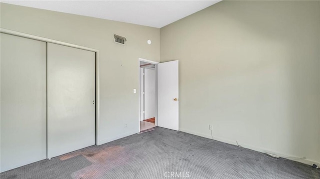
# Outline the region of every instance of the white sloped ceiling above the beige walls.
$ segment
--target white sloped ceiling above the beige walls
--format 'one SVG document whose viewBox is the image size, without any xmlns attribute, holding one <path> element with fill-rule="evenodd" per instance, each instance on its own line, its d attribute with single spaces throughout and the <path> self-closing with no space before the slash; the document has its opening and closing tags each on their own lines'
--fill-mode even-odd
<svg viewBox="0 0 320 179">
<path fill-rule="evenodd" d="M 221 0 L 1 0 L 151 27 L 163 27 Z"/>
</svg>

